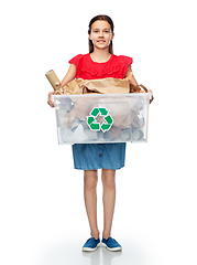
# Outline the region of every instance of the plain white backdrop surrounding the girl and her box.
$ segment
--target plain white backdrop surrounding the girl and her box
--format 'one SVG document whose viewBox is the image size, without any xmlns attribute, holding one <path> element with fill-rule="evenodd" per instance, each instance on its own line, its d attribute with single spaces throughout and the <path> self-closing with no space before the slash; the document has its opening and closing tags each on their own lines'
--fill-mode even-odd
<svg viewBox="0 0 197 265">
<path fill-rule="evenodd" d="M 196 265 L 196 2 L 10 0 L 0 6 L 1 264 L 80 264 L 77 255 L 101 264 L 80 253 L 89 236 L 83 172 L 74 170 L 72 147 L 57 145 L 44 74 L 53 68 L 62 80 L 68 60 L 88 52 L 90 19 L 105 13 L 114 22 L 114 53 L 133 57 L 135 78 L 155 100 L 149 142 L 128 144 L 125 167 L 117 172 L 112 236 L 123 253 L 103 264 L 120 264 L 127 255 L 124 264 Z M 98 213 L 101 232 L 100 180 Z"/>
</svg>

